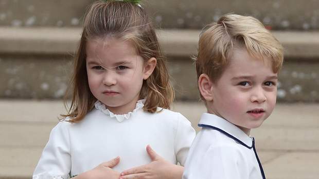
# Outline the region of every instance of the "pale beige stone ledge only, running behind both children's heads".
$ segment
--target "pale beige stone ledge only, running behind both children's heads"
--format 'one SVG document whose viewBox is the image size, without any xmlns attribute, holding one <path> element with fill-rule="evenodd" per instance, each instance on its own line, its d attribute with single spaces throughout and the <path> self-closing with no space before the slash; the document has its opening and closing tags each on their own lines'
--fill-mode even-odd
<svg viewBox="0 0 319 179">
<path fill-rule="evenodd" d="M 0 26 L 0 53 L 74 54 L 81 28 L 15 28 Z M 167 56 L 189 57 L 197 53 L 200 30 L 163 29 L 157 35 Z M 273 31 L 285 47 L 287 58 L 319 58 L 319 31 Z"/>
</svg>

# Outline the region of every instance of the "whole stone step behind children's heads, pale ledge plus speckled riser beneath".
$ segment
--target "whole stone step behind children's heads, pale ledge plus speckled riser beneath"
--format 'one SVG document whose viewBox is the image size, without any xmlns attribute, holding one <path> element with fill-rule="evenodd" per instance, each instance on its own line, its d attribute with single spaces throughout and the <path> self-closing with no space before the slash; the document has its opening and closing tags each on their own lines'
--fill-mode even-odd
<svg viewBox="0 0 319 179">
<path fill-rule="evenodd" d="M 0 27 L 0 97 L 62 98 L 81 28 Z M 179 100 L 198 100 L 196 72 L 200 30 L 157 30 Z M 274 31 L 285 48 L 278 100 L 319 102 L 319 32 Z"/>
</svg>

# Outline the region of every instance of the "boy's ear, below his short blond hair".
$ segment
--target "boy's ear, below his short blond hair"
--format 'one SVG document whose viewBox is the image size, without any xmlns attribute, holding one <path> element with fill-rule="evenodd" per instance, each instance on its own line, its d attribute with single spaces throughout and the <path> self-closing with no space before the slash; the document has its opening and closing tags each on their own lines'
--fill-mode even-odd
<svg viewBox="0 0 319 179">
<path fill-rule="evenodd" d="M 212 82 L 207 74 L 201 74 L 198 78 L 198 88 L 206 101 L 214 100 L 214 93 L 212 91 Z"/>
</svg>

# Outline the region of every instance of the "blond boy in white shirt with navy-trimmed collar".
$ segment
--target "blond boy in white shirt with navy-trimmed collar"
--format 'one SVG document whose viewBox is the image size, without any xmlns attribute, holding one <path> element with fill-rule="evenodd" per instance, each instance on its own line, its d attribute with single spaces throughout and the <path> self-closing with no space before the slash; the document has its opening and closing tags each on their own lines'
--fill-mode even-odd
<svg viewBox="0 0 319 179">
<path fill-rule="evenodd" d="M 196 70 L 207 113 L 184 179 L 265 178 L 250 130 L 275 107 L 282 61 L 282 46 L 256 18 L 227 14 L 201 33 Z"/>
</svg>

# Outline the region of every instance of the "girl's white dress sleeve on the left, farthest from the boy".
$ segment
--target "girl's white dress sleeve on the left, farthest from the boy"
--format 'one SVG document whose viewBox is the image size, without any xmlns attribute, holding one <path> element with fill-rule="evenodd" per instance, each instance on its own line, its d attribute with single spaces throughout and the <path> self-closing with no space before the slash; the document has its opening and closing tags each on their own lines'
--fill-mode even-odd
<svg viewBox="0 0 319 179">
<path fill-rule="evenodd" d="M 71 155 L 67 125 L 69 123 L 60 122 L 51 130 L 49 141 L 33 172 L 33 179 L 69 178 Z"/>
</svg>

